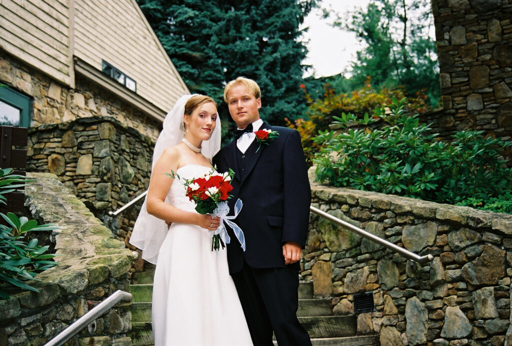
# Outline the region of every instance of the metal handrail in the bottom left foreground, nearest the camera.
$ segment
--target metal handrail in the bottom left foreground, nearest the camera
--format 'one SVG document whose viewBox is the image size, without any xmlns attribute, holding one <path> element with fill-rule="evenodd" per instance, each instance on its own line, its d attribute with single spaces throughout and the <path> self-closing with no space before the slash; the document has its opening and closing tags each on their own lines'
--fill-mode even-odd
<svg viewBox="0 0 512 346">
<path fill-rule="evenodd" d="M 124 292 L 121 290 L 115 291 L 110 297 L 106 298 L 100 304 L 91 309 L 87 314 L 83 315 L 76 321 L 74 321 L 68 328 L 57 334 L 53 339 L 48 341 L 45 346 L 59 346 L 73 336 L 75 336 L 78 332 L 80 332 L 83 328 L 86 328 L 89 323 L 93 322 L 95 319 L 103 315 L 105 312 L 109 311 L 114 305 L 116 305 L 119 301 L 132 301 L 133 296 L 132 293 Z"/>
</svg>

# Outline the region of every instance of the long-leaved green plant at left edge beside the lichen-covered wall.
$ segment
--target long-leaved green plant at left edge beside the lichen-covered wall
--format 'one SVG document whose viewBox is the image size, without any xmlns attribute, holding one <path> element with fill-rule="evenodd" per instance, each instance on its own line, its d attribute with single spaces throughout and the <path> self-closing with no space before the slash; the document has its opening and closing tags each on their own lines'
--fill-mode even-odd
<svg viewBox="0 0 512 346">
<path fill-rule="evenodd" d="M 29 181 L 24 176 L 11 173 L 11 168 L 0 169 L 0 204 L 6 205 L 6 193 Z M 55 266 L 56 263 L 49 259 L 56 255 L 45 254 L 49 246 L 38 245 L 35 238 L 29 240 L 28 232 L 54 230 L 57 225 L 37 225 L 35 220 L 19 218 L 10 212 L 0 213 L 0 217 L 7 222 L 7 226 L 0 225 L 0 299 L 11 299 L 5 290 L 9 286 L 39 292 L 24 282 L 37 280 L 34 277 L 37 273 Z"/>
</svg>

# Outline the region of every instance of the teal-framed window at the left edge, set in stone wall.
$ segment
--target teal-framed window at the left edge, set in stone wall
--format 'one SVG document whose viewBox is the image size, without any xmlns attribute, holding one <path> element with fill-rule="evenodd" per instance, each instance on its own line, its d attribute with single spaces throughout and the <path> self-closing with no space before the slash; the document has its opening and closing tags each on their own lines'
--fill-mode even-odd
<svg viewBox="0 0 512 346">
<path fill-rule="evenodd" d="M 30 126 L 30 98 L 11 88 L 0 88 L 0 125 Z"/>
</svg>

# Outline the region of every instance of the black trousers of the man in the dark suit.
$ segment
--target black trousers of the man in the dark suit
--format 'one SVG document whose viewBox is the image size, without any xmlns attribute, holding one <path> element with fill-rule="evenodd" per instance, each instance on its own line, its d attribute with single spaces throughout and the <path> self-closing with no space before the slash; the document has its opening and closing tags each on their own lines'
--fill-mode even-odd
<svg viewBox="0 0 512 346">
<path fill-rule="evenodd" d="M 231 274 L 254 346 L 310 346 L 297 319 L 298 271 L 295 268 L 251 268 Z"/>
</svg>

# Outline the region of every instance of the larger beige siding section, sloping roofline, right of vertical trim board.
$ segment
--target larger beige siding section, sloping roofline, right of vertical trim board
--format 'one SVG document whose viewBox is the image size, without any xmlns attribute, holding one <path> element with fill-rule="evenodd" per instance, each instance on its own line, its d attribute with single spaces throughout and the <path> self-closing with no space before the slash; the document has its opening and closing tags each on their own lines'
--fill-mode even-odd
<svg viewBox="0 0 512 346">
<path fill-rule="evenodd" d="M 135 0 L 76 1 L 74 32 L 75 56 L 98 70 L 109 62 L 160 109 L 188 92 Z"/>
</svg>

